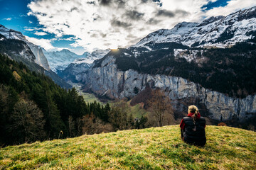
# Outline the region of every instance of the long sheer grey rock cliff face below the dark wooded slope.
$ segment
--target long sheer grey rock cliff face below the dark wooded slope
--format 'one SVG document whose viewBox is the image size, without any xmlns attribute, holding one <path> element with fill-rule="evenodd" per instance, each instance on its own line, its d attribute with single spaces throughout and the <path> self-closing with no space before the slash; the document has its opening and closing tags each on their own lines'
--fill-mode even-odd
<svg viewBox="0 0 256 170">
<path fill-rule="evenodd" d="M 88 91 L 110 98 L 132 98 L 146 86 L 152 89 L 160 88 L 171 98 L 176 110 L 181 110 L 178 108 L 178 101 L 197 98 L 200 104 L 206 106 L 210 113 L 208 117 L 214 120 L 245 120 L 256 114 L 256 95 L 242 99 L 231 98 L 181 77 L 139 74 L 132 69 L 122 72 L 117 69 L 115 58 L 112 56 L 106 57 L 101 67 L 89 69 L 82 81 Z"/>
</svg>

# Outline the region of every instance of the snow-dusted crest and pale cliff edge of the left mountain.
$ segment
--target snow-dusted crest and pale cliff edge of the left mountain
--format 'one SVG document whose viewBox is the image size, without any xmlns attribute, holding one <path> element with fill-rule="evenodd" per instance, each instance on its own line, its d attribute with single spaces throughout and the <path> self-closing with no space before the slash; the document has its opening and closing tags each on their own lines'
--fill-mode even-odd
<svg viewBox="0 0 256 170">
<path fill-rule="evenodd" d="M 36 60 L 34 60 L 34 62 L 36 62 L 36 64 L 39 64 L 44 69 L 50 70 L 48 61 L 47 61 L 45 55 L 43 55 L 42 48 L 39 47 L 38 45 L 34 45 L 32 42 L 29 42 L 28 40 L 26 40 L 25 36 L 22 35 L 21 32 L 18 32 L 16 30 L 12 30 L 12 29 L 8 29 L 0 24 L 0 34 L 4 35 L 4 37 L 7 39 L 21 40 L 23 42 L 26 42 L 28 47 L 33 52 L 33 55 L 36 57 Z M 21 56 L 22 56 L 22 54 L 21 54 Z"/>
</svg>

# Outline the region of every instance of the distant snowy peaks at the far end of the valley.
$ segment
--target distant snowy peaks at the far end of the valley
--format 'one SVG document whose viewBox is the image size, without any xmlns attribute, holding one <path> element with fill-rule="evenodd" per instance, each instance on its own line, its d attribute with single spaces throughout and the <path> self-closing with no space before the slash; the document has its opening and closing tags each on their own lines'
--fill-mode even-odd
<svg viewBox="0 0 256 170">
<path fill-rule="evenodd" d="M 92 64 L 94 60 L 102 58 L 110 50 L 95 50 L 90 54 L 90 52 L 84 52 L 82 55 L 77 55 L 70 50 L 61 50 L 55 52 L 48 52 L 43 50 L 43 53 L 46 55 L 47 60 L 50 64 L 50 68 L 53 72 L 62 72 L 69 64 Z"/>
</svg>

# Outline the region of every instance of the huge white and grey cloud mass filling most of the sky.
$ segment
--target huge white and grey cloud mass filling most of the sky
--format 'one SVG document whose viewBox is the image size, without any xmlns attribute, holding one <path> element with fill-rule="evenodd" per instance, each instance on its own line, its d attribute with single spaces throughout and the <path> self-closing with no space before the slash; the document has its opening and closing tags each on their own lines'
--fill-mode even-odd
<svg viewBox="0 0 256 170">
<path fill-rule="evenodd" d="M 227 15 L 237 8 L 256 5 L 251 0 L 231 0 L 224 8 L 203 12 L 201 6 L 209 1 L 216 0 L 161 0 L 162 6 L 152 0 L 31 1 L 28 15 L 38 18 L 44 32 L 58 38 L 73 35 L 73 47 L 92 50 L 133 45 L 154 30 L 171 29 L 182 21 L 202 21 L 207 16 Z"/>
</svg>

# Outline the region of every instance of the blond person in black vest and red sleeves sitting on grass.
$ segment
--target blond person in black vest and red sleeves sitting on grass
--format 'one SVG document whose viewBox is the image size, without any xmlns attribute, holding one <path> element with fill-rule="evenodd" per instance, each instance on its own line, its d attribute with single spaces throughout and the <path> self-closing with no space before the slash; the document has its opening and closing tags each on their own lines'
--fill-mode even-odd
<svg viewBox="0 0 256 170">
<path fill-rule="evenodd" d="M 188 115 L 181 120 L 181 139 L 192 145 L 206 145 L 206 120 L 196 106 L 188 107 Z"/>
</svg>

